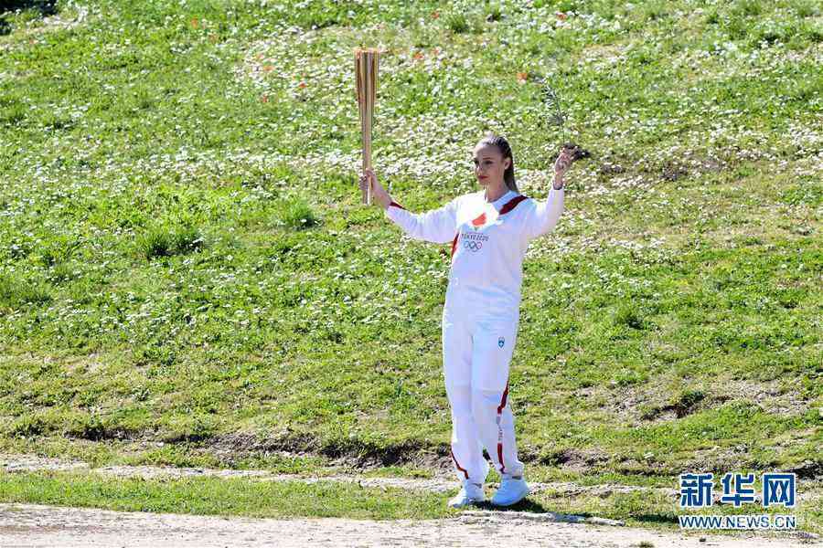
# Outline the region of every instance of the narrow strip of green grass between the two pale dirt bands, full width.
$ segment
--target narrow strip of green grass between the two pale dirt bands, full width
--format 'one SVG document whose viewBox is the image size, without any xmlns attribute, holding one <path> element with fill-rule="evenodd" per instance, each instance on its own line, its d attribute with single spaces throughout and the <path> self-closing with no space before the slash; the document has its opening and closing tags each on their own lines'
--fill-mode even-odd
<svg viewBox="0 0 823 548">
<path fill-rule="evenodd" d="M 456 490 L 456 489 L 455 489 Z M 123 479 L 95 473 L 0 472 L 0 500 L 5 502 L 92 507 L 116 511 L 184 512 L 198 515 L 256 518 L 348 517 L 397 520 L 453 517 L 459 511 L 445 501 L 454 491 L 369 488 L 337 481 L 265 481 L 257 479 Z M 487 489 L 491 496 L 492 490 Z M 492 508 L 484 505 L 485 508 Z M 689 513 L 752 513 L 751 507 L 731 505 Z M 677 501 L 659 493 L 613 492 L 603 495 L 544 490 L 510 508 L 535 513 L 558 512 L 622 520 L 626 525 L 678 530 Z M 758 509 L 760 512 L 762 509 Z M 505 510 L 501 510 L 505 511 Z M 786 513 L 768 509 L 766 513 Z M 802 506 L 798 526 L 814 530 L 820 511 Z"/>
</svg>

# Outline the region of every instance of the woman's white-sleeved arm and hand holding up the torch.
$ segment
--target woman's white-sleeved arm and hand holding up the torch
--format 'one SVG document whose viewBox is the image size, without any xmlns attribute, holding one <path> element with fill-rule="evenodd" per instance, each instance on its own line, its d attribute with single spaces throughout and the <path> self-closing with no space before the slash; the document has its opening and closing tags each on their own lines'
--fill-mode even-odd
<svg viewBox="0 0 823 548">
<path fill-rule="evenodd" d="M 412 213 L 391 199 L 371 169 L 360 175 L 360 188 L 366 188 L 367 184 L 371 184 L 375 202 L 383 207 L 386 216 L 410 237 L 436 244 L 445 244 L 454 239 L 457 226 L 457 198 L 438 209 L 426 213 Z"/>
</svg>

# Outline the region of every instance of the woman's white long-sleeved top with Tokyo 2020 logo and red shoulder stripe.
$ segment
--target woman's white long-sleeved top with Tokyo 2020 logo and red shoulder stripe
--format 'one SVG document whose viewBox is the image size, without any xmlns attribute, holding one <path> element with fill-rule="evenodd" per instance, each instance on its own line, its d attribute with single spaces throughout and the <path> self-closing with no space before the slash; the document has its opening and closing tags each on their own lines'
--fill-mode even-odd
<svg viewBox="0 0 823 548">
<path fill-rule="evenodd" d="M 392 202 L 386 216 L 412 238 L 452 242 L 444 312 L 516 317 L 529 241 L 554 228 L 562 211 L 563 189 L 552 187 L 545 201 L 509 190 L 489 204 L 481 190 L 422 214 Z"/>
</svg>

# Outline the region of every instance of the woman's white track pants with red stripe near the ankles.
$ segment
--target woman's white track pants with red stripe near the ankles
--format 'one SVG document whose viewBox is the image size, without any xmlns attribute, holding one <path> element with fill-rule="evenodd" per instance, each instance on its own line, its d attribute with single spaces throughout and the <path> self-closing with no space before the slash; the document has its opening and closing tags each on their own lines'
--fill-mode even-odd
<svg viewBox="0 0 823 548">
<path fill-rule="evenodd" d="M 452 462 L 461 480 L 484 483 L 486 448 L 498 472 L 518 476 L 514 416 L 508 403 L 508 368 L 518 317 L 480 319 L 469 311 L 445 309 L 443 364 L 452 407 Z"/>
</svg>

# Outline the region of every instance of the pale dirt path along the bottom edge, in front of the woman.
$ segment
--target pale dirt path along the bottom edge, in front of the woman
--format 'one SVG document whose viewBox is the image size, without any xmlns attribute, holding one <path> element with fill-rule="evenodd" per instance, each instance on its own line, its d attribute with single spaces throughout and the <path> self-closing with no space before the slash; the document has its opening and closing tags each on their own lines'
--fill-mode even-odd
<svg viewBox="0 0 823 548">
<path fill-rule="evenodd" d="M 704 541 L 701 542 L 700 538 Z M 341 519 L 258 520 L 144 512 L 0 504 L 0 546 L 554 546 L 784 548 L 808 546 L 797 539 L 650 532 L 607 525 L 527 519 L 522 512 L 465 512 L 458 518 L 373 522 Z M 648 546 L 648 544 L 644 544 Z M 815 545 L 815 544 L 812 544 Z M 817 543 L 816 545 L 820 545 Z"/>
</svg>

